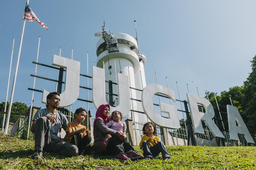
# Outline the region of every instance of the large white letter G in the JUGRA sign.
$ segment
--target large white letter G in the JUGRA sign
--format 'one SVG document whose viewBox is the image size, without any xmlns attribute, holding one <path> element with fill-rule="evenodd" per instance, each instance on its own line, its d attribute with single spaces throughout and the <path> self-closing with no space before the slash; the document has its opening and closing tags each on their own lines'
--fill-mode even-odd
<svg viewBox="0 0 256 170">
<path fill-rule="evenodd" d="M 174 91 L 168 87 L 159 84 L 149 84 L 143 90 L 141 94 L 142 108 L 150 121 L 154 122 L 160 127 L 178 129 L 180 128 L 179 116 L 176 106 L 172 106 L 166 103 L 159 103 L 160 111 L 169 113 L 169 118 L 160 116 L 153 105 L 154 94 L 159 93 L 168 96 L 175 102 Z M 170 118 L 171 117 L 171 118 Z"/>
</svg>

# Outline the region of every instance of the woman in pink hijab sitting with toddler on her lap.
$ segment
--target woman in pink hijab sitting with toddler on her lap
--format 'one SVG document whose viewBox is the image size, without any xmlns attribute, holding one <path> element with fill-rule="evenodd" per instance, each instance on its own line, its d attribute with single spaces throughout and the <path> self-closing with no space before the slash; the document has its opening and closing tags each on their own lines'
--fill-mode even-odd
<svg viewBox="0 0 256 170">
<path fill-rule="evenodd" d="M 115 159 L 120 160 L 143 159 L 144 156 L 137 154 L 127 140 L 122 142 L 118 137 L 115 137 L 115 133 L 119 133 L 118 131 L 105 125 L 109 122 L 109 114 L 109 104 L 102 104 L 97 109 L 93 122 L 94 152 L 100 155 L 114 155 Z M 108 134 L 114 137 L 110 138 L 106 152 L 102 152 L 100 144 Z"/>
</svg>

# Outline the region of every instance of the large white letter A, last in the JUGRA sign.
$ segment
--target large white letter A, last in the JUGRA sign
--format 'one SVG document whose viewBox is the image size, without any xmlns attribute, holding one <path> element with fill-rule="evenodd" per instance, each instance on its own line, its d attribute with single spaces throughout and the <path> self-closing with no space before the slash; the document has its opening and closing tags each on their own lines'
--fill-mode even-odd
<svg viewBox="0 0 256 170">
<path fill-rule="evenodd" d="M 228 112 L 228 128 L 230 140 L 238 141 L 238 134 L 244 135 L 247 143 L 254 143 L 252 136 L 249 133 L 241 115 L 235 106 L 227 105 Z M 236 125 L 236 121 L 238 126 Z"/>
</svg>

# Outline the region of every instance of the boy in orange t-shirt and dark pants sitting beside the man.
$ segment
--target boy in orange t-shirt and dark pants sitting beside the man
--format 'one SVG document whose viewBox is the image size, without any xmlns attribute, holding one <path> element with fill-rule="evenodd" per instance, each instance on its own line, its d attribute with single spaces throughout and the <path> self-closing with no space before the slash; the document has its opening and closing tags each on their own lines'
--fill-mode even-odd
<svg viewBox="0 0 256 170">
<path fill-rule="evenodd" d="M 91 132 L 81 124 L 86 118 L 86 110 L 83 108 L 78 108 L 75 111 L 74 116 L 75 121 L 68 123 L 66 130 L 67 137 L 65 138 L 65 140 L 68 143 L 72 143 L 78 147 L 78 155 L 81 155 L 83 152 L 84 154 L 90 154 L 92 150 L 92 147 L 90 145 L 90 142 L 92 140 L 90 136 Z"/>
</svg>

